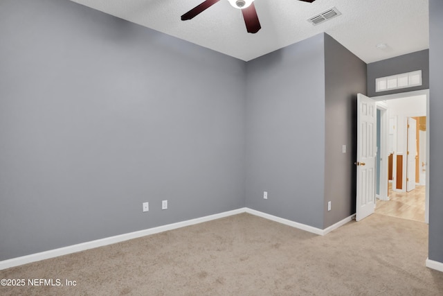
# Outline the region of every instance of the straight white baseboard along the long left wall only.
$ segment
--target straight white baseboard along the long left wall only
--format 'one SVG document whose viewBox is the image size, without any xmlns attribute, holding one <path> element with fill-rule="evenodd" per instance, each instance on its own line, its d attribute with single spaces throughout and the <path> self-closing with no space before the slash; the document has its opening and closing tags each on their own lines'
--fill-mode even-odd
<svg viewBox="0 0 443 296">
<path fill-rule="evenodd" d="M 20 257 L 8 259 L 8 260 L 3 260 L 3 261 L 0 261 L 0 270 L 6 269 L 6 268 L 12 268 L 14 266 L 23 265 L 23 264 L 31 263 L 31 262 L 35 262 L 35 261 L 41 261 L 44 259 L 50 259 L 50 258 L 54 258 L 57 256 L 62 256 L 62 255 L 72 254 L 75 252 L 89 250 L 89 249 L 93 249 L 94 247 L 102 247 L 105 245 L 120 243 L 122 241 L 128 241 L 133 238 L 139 238 L 139 237 L 147 236 L 150 234 L 157 234 L 159 232 L 166 232 L 166 231 L 172 230 L 172 229 L 195 225 L 198 223 L 204 223 L 204 222 L 207 222 L 210 220 L 215 220 L 215 219 L 224 218 L 224 217 L 228 217 L 228 216 L 232 216 L 232 215 L 236 215 L 236 214 L 241 214 L 241 213 L 244 213 L 245 211 L 246 211 L 246 208 L 235 209 L 233 211 L 225 211 L 220 214 L 204 216 L 201 218 L 195 218 L 195 219 L 186 220 L 183 222 L 172 223 L 172 224 L 154 227 L 154 228 L 150 228 L 150 229 L 144 229 L 144 230 L 140 230 L 138 232 L 129 232 L 127 234 L 110 236 L 110 237 L 101 238 L 101 239 L 98 239 L 95 241 L 88 241 L 86 243 L 79 243 L 77 245 L 69 245 L 67 247 L 60 247 L 60 248 L 54 249 L 54 250 L 48 250 L 45 252 L 39 252 L 39 253 L 35 253 L 35 254 L 20 256 Z"/>
</svg>

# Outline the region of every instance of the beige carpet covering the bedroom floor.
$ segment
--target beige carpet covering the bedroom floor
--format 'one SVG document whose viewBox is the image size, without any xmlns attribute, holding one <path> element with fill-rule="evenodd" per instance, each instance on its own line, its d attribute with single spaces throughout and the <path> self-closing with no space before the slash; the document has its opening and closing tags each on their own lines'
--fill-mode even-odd
<svg viewBox="0 0 443 296">
<path fill-rule="evenodd" d="M 326 236 L 239 214 L 0 270 L 64 284 L 0 295 L 443 295 L 427 237 L 424 223 L 379 214 Z"/>
</svg>

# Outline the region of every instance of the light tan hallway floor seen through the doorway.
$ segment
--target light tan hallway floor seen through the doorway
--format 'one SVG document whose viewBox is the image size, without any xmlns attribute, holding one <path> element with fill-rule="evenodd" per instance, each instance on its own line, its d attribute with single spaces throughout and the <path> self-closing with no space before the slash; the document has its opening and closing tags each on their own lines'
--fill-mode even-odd
<svg viewBox="0 0 443 296">
<path fill-rule="evenodd" d="M 416 186 L 410 192 L 389 190 L 390 200 L 377 200 L 375 212 L 387 216 L 424 222 L 426 186 Z"/>
</svg>

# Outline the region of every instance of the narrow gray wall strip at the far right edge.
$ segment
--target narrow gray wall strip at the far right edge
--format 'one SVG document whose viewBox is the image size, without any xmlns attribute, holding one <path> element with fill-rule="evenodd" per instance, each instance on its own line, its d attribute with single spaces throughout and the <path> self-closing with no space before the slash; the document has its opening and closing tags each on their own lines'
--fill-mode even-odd
<svg viewBox="0 0 443 296">
<path fill-rule="evenodd" d="M 443 263 L 443 1 L 429 0 L 429 259 Z"/>
</svg>

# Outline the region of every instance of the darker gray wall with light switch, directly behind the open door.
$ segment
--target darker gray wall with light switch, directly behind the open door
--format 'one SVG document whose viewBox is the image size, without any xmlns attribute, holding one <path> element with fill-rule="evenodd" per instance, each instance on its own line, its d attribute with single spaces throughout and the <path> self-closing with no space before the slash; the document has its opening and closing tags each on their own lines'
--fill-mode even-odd
<svg viewBox="0 0 443 296">
<path fill-rule="evenodd" d="M 356 203 L 356 95 L 366 94 L 366 63 L 325 34 L 325 222 L 352 214 Z M 342 146 L 346 145 L 346 153 Z M 331 211 L 327 202 L 331 201 Z"/>
</svg>

